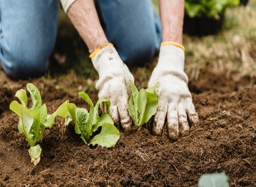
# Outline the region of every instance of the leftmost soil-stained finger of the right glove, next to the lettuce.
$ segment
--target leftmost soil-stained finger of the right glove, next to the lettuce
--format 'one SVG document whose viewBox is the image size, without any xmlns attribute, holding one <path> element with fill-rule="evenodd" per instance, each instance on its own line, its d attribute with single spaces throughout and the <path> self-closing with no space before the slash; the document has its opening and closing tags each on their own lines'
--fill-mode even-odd
<svg viewBox="0 0 256 187">
<path fill-rule="evenodd" d="M 158 101 L 157 112 L 155 112 L 153 134 L 160 136 L 163 131 L 163 125 L 165 125 L 165 118 L 167 112 L 167 103 L 164 100 Z"/>
</svg>

